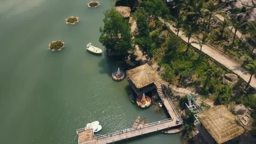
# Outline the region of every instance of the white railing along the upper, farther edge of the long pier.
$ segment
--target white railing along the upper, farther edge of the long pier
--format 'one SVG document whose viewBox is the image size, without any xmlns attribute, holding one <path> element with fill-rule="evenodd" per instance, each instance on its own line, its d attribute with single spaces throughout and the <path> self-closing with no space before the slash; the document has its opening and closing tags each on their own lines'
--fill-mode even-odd
<svg viewBox="0 0 256 144">
<path fill-rule="evenodd" d="M 149 124 L 146 124 L 146 125 L 141 125 L 141 126 L 137 126 L 137 127 L 134 127 L 134 128 L 128 128 L 128 129 L 125 129 L 125 130 L 122 130 L 122 131 L 116 131 L 116 132 L 113 132 L 113 133 L 107 133 L 105 135 L 94 136 L 94 137 L 96 139 L 102 139 L 102 138 L 105 138 L 105 137 L 114 136 L 114 135 L 122 134 L 122 133 L 127 133 L 129 131 L 136 131 L 136 130 L 141 129 L 141 128 L 147 128 L 147 127 L 150 127 L 152 125 L 159 125 L 159 124 L 170 122 L 170 121 L 173 121 L 173 118 L 160 120 L 160 121 L 157 121 L 157 122 L 154 122 L 154 123 L 149 123 Z M 179 124 L 177 124 L 177 125 L 179 125 Z"/>
</svg>

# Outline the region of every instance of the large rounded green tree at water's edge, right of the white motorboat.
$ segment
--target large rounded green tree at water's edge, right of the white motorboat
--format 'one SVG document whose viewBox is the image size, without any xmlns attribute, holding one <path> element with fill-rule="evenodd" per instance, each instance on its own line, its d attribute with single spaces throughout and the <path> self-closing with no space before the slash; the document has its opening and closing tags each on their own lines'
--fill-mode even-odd
<svg viewBox="0 0 256 144">
<path fill-rule="evenodd" d="M 117 56 L 128 56 L 133 50 L 131 28 L 123 16 L 114 9 L 104 12 L 104 27 L 100 27 L 99 41 Z"/>
</svg>

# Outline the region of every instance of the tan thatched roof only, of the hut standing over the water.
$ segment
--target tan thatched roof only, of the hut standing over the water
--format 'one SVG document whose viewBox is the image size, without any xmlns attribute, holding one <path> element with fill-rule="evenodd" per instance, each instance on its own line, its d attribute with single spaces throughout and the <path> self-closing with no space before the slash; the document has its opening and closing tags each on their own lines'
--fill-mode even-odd
<svg viewBox="0 0 256 144">
<path fill-rule="evenodd" d="M 143 64 L 126 72 L 128 78 L 136 88 L 142 88 L 151 83 L 160 81 L 161 77 L 148 64 Z"/>
</svg>

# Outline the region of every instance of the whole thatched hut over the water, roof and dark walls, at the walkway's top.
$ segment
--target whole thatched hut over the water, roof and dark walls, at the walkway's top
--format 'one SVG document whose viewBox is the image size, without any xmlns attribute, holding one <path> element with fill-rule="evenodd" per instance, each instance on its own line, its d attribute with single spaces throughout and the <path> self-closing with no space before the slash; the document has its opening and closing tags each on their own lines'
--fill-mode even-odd
<svg viewBox="0 0 256 144">
<path fill-rule="evenodd" d="M 155 83 L 161 80 L 161 77 L 148 64 L 143 64 L 126 72 L 128 83 L 139 96 L 156 88 Z"/>
</svg>

